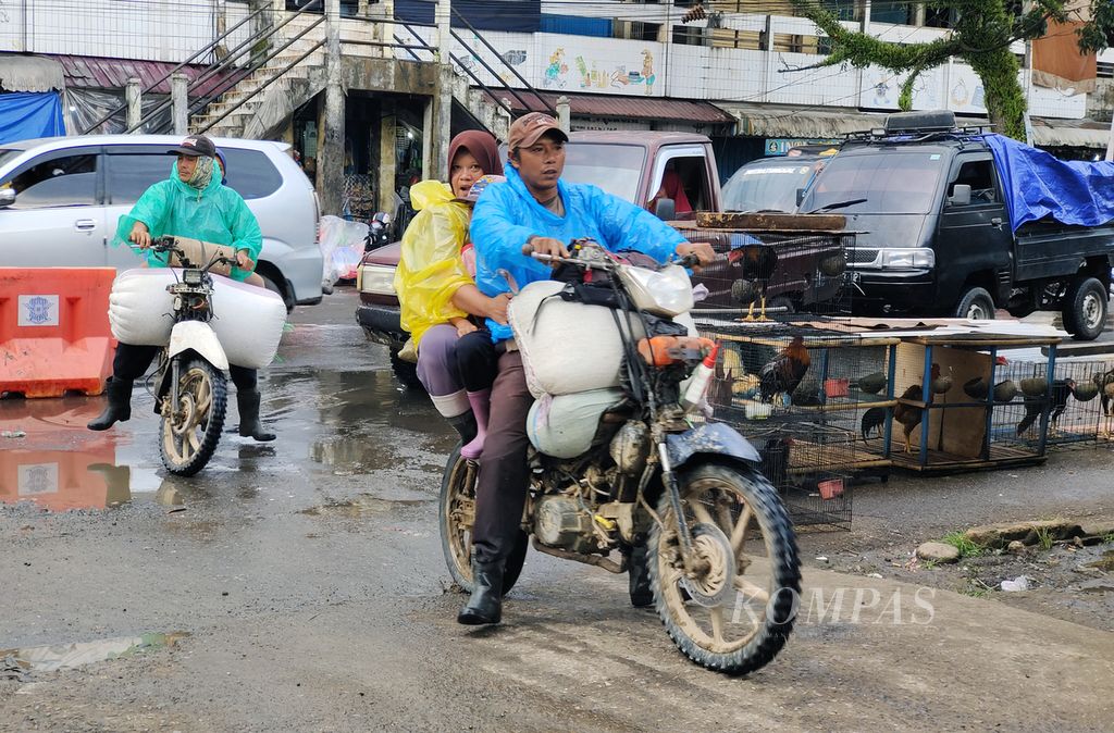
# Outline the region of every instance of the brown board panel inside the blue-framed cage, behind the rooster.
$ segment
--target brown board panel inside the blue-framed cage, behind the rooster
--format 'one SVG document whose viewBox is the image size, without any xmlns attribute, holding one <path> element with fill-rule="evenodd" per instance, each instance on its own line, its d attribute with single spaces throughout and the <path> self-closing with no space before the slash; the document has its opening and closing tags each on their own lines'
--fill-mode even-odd
<svg viewBox="0 0 1114 733">
<path fill-rule="evenodd" d="M 912 343 L 898 344 L 893 394 L 900 397 L 911 384 L 921 384 L 925 377 L 925 346 Z M 940 365 L 940 375 L 951 377 L 951 389 L 945 394 L 934 394 L 934 404 L 973 402 L 964 392 L 964 384 L 976 377 L 990 374 L 990 356 L 966 349 L 932 349 L 932 361 Z M 950 371 L 949 371 L 950 370 Z M 920 397 L 916 398 L 920 400 Z M 920 444 L 921 427 L 912 431 L 912 449 Z M 901 424 L 893 424 L 893 450 L 903 450 Z M 978 458 L 986 437 L 986 408 L 947 408 L 929 411 L 928 449 L 955 456 Z"/>
</svg>

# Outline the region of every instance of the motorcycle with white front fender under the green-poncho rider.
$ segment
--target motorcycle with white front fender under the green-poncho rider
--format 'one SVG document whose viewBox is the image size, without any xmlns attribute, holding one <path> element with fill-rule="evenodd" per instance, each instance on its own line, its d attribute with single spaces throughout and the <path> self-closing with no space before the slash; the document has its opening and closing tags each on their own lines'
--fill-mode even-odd
<svg viewBox="0 0 1114 733">
<path fill-rule="evenodd" d="M 175 266 L 183 268 L 182 280 L 166 286 L 174 295 L 170 314 L 174 326 L 170 342 L 160 352 L 155 374 L 158 385 L 155 411 L 160 418 L 159 453 L 166 470 L 177 476 L 193 476 L 213 457 L 228 404 L 225 379 L 228 358 L 209 325 L 214 290 L 209 270 L 236 263 L 221 251 L 208 255 L 202 248 L 201 252 L 208 255 L 202 255 L 207 262 L 194 264 L 173 236 L 156 238 L 150 248 L 168 254 Z"/>
</svg>

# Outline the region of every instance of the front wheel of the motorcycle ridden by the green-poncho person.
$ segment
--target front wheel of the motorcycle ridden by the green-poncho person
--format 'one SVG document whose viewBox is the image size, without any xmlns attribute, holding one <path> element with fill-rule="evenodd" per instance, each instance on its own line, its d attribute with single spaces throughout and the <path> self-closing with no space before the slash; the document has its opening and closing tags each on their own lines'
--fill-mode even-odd
<svg viewBox="0 0 1114 733">
<path fill-rule="evenodd" d="M 178 402 L 164 404 L 160 412 L 158 444 L 166 470 L 176 476 L 193 476 L 205 468 L 224 428 L 227 390 L 219 369 L 197 356 L 183 360 L 178 371 Z M 169 393 L 164 399 L 169 401 Z"/>
</svg>

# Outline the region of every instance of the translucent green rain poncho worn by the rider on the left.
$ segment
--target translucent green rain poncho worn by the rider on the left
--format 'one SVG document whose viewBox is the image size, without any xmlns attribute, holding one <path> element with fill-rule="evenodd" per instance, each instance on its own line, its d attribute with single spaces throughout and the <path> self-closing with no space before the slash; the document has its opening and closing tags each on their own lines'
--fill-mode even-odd
<svg viewBox="0 0 1114 733">
<path fill-rule="evenodd" d="M 131 211 L 120 217 L 113 244 L 135 247 L 128 235 L 137 221 L 147 225 L 152 238 L 175 235 L 223 244 L 245 250 L 253 262 L 263 248 L 260 224 L 240 194 L 224 186 L 219 175 L 214 175 L 203 190 L 190 188 L 178 178 L 177 160 L 170 165 L 170 177 L 144 192 Z M 145 254 L 149 266 L 166 266 L 165 254 L 149 250 Z M 243 281 L 250 274 L 232 268 L 233 280 Z"/>
</svg>

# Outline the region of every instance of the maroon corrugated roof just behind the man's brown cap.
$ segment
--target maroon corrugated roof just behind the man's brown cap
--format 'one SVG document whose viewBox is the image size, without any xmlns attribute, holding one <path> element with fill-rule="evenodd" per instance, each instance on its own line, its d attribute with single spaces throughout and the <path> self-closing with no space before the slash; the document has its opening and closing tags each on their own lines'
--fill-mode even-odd
<svg viewBox="0 0 1114 733">
<path fill-rule="evenodd" d="M 558 97 L 568 97 L 574 115 L 580 117 L 623 117 L 627 119 L 661 119 L 705 125 L 725 125 L 735 121 L 715 105 L 688 99 L 658 99 L 655 97 L 618 97 L 608 95 L 554 94 L 519 91 L 518 96 L 529 105 L 527 109 L 509 91 L 488 92 L 489 97 L 507 100 L 515 111 L 546 111 L 557 107 Z"/>
</svg>

